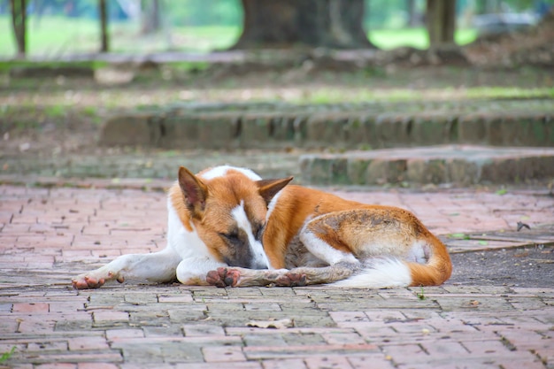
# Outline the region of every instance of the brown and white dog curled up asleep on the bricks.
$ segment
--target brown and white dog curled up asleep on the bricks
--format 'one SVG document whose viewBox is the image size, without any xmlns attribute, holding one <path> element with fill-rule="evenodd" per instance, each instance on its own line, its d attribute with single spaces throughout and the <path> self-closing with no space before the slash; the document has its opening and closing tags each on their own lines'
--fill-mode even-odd
<svg viewBox="0 0 554 369">
<path fill-rule="evenodd" d="M 169 189 L 167 247 L 116 258 L 74 288 L 138 279 L 187 285 L 352 288 L 439 285 L 449 254 L 411 212 L 262 180 L 249 169 L 181 167 Z"/>
</svg>

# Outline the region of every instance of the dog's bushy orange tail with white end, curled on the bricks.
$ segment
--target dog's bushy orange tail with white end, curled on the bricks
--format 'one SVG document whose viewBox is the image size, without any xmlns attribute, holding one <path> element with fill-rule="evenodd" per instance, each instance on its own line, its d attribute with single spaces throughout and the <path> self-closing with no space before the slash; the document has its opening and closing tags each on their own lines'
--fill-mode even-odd
<svg viewBox="0 0 554 369">
<path fill-rule="evenodd" d="M 434 237 L 426 264 L 398 258 L 375 258 L 361 272 L 332 285 L 346 288 L 393 288 L 438 286 L 450 278 L 452 263 L 448 251 Z"/>
</svg>

